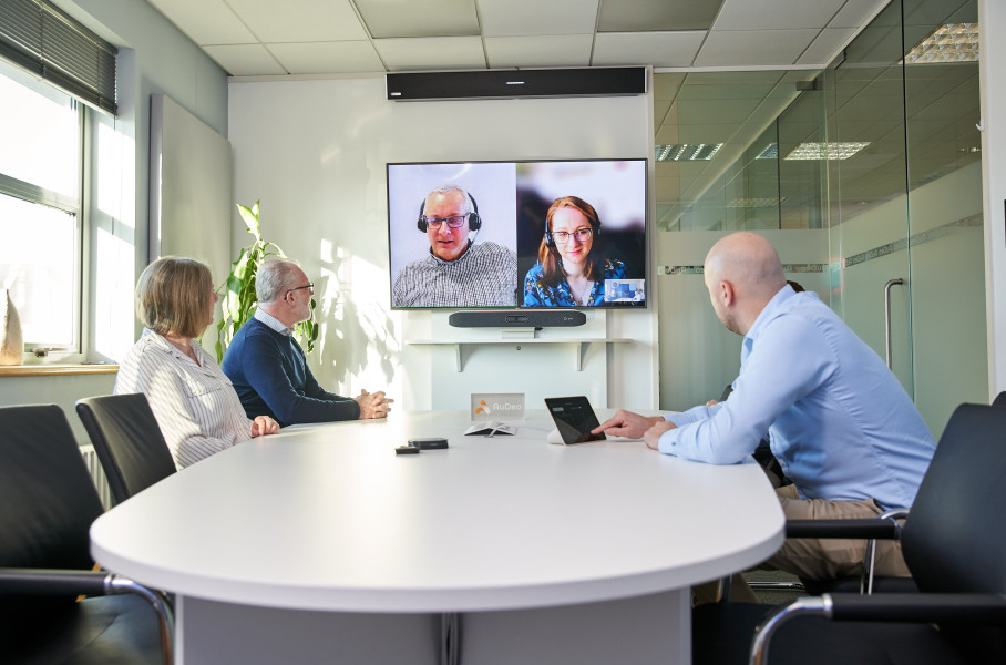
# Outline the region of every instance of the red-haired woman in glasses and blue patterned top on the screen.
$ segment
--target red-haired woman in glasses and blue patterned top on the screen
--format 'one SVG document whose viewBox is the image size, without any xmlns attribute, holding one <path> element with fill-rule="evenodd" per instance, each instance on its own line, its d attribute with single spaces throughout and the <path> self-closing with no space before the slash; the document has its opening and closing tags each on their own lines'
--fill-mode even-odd
<svg viewBox="0 0 1006 665">
<path fill-rule="evenodd" d="M 524 307 L 592 307 L 604 304 L 605 279 L 625 277 L 625 264 L 593 252 L 600 219 L 589 203 L 562 196 L 545 213 L 538 263 L 524 277 Z"/>
</svg>

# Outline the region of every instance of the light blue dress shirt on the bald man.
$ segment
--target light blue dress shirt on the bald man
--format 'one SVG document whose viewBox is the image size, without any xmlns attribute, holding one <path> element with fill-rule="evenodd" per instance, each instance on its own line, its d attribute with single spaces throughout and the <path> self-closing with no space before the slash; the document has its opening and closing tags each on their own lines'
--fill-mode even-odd
<svg viewBox="0 0 1006 665">
<path fill-rule="evenodd" d="M 936 442 L 880 357 L 821 303 L 783 287 L 745 336 L 740 376 L 712 407 L 665 416 L 660 452 L 743 461 L 766 430 L 804 499 L 907 508 Z"/>
</svg>

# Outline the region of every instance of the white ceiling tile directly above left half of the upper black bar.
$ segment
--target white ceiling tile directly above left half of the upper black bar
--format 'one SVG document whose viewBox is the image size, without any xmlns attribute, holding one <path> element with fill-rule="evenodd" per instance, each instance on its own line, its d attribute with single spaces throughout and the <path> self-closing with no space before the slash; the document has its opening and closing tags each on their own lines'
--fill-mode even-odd
<svg viewBox="0 0 1006 665">
<path fill-rule="evenodd" d="M 478 37 L 376 39 L 373 45 L 389 71 L 484 69 Z"/>
</svg>

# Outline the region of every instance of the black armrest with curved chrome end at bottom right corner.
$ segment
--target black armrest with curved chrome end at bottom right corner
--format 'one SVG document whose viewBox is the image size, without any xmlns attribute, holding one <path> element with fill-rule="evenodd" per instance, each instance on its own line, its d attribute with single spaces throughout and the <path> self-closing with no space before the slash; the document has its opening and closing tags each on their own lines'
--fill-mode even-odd
<svg viewBox="0 0 1006 665">
<path fill-rule="evenodd" d="M 750 665 L 768 662 L 776 631 L 800 616 L 832 621 L 902 623 L 956 623 L 1006 625 L 1006 595 L 966 593 L 855 593 L 823 594 L 797 598 L 754 630 Z"/>
</svg>

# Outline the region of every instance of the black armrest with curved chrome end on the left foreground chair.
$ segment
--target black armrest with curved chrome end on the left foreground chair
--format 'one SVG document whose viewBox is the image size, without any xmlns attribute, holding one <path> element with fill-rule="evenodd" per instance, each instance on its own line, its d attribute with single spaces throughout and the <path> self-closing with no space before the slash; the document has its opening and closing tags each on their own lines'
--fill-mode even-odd
<svg viewBox="0 0 1006 665">
<path fill-rule="evenodd" d="M 147 589 L 107 571 L 0 567 L 0 594 L 20 595 L 116 595 L 142 596 L 161 624 L 161 656 L 165 665 L 174 662 L 175 611 L 163 591 Z"/>
</svg>

